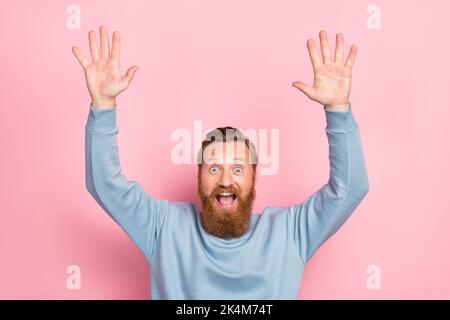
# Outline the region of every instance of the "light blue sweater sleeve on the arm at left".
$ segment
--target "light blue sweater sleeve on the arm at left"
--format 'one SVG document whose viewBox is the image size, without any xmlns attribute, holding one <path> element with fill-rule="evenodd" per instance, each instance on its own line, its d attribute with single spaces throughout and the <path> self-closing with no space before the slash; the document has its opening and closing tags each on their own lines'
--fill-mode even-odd
<svg viewBox="0 0 450 320">
<path fill-rule="evenodd" d="M 129 181 L 122 173 L 116 115 L 116 106 L 97 110 L 90 105 L 85 127 L 86 188 L 138 248 L 150 257 L 168 212 L 168 200 L 150 196 L 141 184 Z"/>
</svg>

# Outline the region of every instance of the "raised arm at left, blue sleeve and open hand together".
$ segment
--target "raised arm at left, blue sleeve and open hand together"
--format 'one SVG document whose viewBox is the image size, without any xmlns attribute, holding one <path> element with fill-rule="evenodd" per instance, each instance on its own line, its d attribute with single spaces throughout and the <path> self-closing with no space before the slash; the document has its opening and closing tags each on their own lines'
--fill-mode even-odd
<svg viewBox="0 0 450 320">
<path fill-rule="evenodd" d="M 139 249 L 151 256 L 168 211 L 168 201 L 153 198 L 122 173 L 117 144 L 116 97 L 124 91 L 136 70 L 120 76 L 120 36 L 114 32 L 109 55 L 106 27 L 100 27 L 101 54 L 95 34 L 89 32 L 92 63 L 77 48 L 73 52 L 86 75 L 92 103 L 85 127 L 86 188 L 96 202 L 128 234 Z"/>
</svg>

